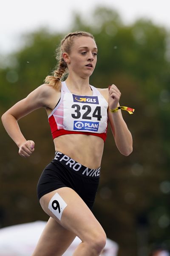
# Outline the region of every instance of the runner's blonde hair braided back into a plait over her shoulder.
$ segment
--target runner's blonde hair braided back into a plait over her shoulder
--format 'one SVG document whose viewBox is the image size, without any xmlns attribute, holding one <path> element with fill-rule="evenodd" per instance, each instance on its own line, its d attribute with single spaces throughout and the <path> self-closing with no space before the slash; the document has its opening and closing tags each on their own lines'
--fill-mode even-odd
<svg viewBox="0 0 170 256">
<path fill-rule="evenodd" d="M 57 47 L 56 49 L 56 59 L 58 61 L 58 65 L 55 67 L 53 71 L 53 75 L 47 76 L 45 78 L 46 84 L 49 84 L 56 89 L 59 88 L 62 77 L 66 73 L 68 73 L 68 66 L 67 66 L 67 63 L 64 61 L 62 54 L 63 52 L 66 52 L 69 54 L 71 52 L 71 46 L 73 44 L 74 38 L 80 37 L 80 36 L 91 37 L 92 39 L 94 39 L 93 35 L 84 31 L 76 31 L 66 35 L 65 38 L 62 39 L 59 47 Z"/>
</svg>

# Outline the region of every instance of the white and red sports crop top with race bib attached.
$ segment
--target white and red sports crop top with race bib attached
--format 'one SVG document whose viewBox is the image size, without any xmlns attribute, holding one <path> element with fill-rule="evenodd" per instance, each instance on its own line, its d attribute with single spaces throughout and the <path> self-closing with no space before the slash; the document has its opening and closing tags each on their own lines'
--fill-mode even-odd
<svg viewBox="0 0 170 256">
<path fill-rule="evenodd" d="M 92 96 L 72 94 L 62 82 L 61 98 L 48 116 L 53 138 L 64 134 L 88 134 L 106 138 L 108 102 L 94 86 Z"/>
</svg>

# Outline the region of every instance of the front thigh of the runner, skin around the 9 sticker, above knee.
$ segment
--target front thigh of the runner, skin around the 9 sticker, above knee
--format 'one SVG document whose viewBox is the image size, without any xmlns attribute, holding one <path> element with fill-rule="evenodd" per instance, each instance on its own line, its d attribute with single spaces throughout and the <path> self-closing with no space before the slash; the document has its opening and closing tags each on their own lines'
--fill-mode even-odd
<svg viewBox="0 0 170 256">
<path fill-rule="evenodd" d="M 56 193 L 67 204 L 60 220 L 48 209 L 48 204 Z M 96 220 L 91 210 L 73 189 L 63 187 L 54 190 L 42 196 L 40 204 L 49 216 L 54 218 L 66 230 L 78 236 L 82 241 L 88 241 L 88 239 L 91 239 L 91 235 L 95 236 L 95 233 L 104 234 L 102 226 Z"/>
</svg>

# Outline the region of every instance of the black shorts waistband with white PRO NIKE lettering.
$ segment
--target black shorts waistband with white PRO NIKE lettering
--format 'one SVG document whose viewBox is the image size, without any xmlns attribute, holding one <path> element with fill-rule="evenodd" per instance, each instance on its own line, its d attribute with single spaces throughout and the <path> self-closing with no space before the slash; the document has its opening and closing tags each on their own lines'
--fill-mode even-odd
<svg viewBox="0 0 170 256">
<path fill-rule="evenodd" d="M 65 154 L 62 154 L 59 151 L 55 152 L 55 160 L 58 160 L 65 166 L 67 166 L 69 169 L 72 171 L 76 172 L 77 174 L 84 176 L 84 177 L 89 177 L 89 178 L 99 178 L 100 177 L 100 167 L 97 169 L 90 169 L 86 166 L 83 166 L 81 163 L 76 162 L 74 159 L 71 157 L 68 157 Z"/>
</svg>

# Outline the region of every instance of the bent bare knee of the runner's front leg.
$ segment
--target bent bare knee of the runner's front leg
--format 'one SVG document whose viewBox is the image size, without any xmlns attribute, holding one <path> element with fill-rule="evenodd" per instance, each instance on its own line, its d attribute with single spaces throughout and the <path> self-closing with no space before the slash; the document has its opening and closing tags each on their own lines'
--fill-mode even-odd
<svg viewBox="0 0 170 256">
<path fill-rule="evenodd" d="M 105 247 L 106 244 L 106 234 L 103 231 L 102 233 L 97 233 L 94 234 L 94 236 L 91 237 L 90 239 L 90 247 L 96 252 L 96 253 L 101 253 L 102 250 Z"/>
</svg>

